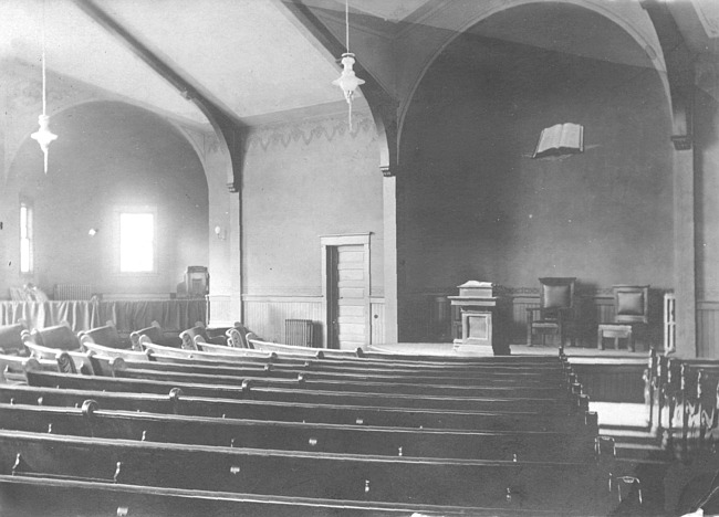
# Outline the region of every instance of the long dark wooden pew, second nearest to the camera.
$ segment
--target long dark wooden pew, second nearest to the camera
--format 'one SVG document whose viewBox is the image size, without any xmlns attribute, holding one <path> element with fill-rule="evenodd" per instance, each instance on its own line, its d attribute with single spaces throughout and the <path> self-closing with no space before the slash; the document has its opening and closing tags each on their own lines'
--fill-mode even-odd
<svg viewBox="0 0 719 517">
<path fill-rule="evenodd" d="M 421 505 L 605 514 L 608 473 L 582 462 L 411 458 L 0 432 L 0 474 Z M 551 497 L 548 497 L 551 494 Z"/>
</svg>

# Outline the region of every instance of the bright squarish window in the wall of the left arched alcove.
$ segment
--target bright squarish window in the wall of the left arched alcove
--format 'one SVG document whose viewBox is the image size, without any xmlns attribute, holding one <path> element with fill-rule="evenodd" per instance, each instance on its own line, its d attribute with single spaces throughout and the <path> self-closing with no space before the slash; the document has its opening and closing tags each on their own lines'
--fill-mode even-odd
<svg viewBox="0 0 719 517">
<path fill-rule="evenodd" d="M 119 271 L 155 271 L 154 212 L 119 212 Z"/>
</svg>

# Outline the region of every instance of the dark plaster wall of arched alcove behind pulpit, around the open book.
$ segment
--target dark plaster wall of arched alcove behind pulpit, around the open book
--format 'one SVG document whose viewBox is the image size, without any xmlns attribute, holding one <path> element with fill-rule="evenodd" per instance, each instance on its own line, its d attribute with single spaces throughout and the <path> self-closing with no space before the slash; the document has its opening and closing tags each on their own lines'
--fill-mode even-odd
<svg viewBox="0 0 719 517">
<path fill-rule="evenodd" d="M 405 124 L 405 292 L 540 276 L 673 287 L 669 109 L 654 68 L 461 45 L 430 70 Z M 467 45 L 478 66 L 461 61 Z M 584 152 L 532 159 L 558 123 L 584 126 Z"/>
</svg>

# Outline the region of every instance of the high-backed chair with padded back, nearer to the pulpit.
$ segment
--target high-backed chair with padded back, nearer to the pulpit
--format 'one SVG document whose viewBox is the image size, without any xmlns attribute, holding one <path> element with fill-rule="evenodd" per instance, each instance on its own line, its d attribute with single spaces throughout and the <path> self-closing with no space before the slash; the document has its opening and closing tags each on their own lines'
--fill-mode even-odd
<svg viewBox="0 0 719 517">
<path fill-rule="evenodd" d="M 534 333 L 542 335 L 542 345 L 546 334 L 560 337 L 560 344 L 569 335 L 571 344 L 575 344 L 574 286 L 575 277 L 543 277 L 540 278 L 540 306 L 527 309 L 527 344 L 532 346 Z M 572 330 L 572 331 L 570 331 Z"/>
</svg>

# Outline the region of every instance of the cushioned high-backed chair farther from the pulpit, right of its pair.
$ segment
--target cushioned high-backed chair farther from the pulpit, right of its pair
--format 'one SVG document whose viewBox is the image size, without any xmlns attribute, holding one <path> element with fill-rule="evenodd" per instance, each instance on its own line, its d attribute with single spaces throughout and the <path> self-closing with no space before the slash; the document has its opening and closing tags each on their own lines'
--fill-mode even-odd
<svg viewBox="0 0 719 517">
<path fill-rule="evenodd" d="M 635 351 L 637 327 L 649 324 L 649 286 L 614 285 L 614 321 L 601 323 L 596 333 L 596 347 L 604 350 L 604 338 L 614 338 L 614 348 L 619 339 L 627 340 L 627 348 Z"/>
</svg>

